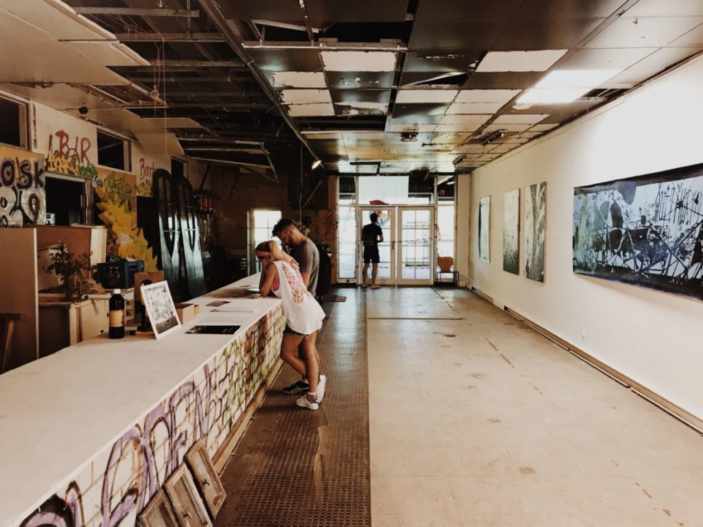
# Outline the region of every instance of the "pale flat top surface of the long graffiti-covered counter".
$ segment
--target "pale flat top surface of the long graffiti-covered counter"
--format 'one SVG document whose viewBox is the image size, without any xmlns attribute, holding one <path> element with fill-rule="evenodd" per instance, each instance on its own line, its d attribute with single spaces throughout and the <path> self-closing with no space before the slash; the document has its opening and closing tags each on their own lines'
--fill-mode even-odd
<svg viewBox="0 0 703 527">
<path fill-rule="evenodd" d="M 15 525 L 247 328 L 278 306 L 236 298 L 258 275 L 190 302 L 200 314 L 162 339 L 101 335 L 0 375 L 0 523 Z M 217 313 L 233 335 L 185 334 Z M 87 513 L 86 513 L 87 514 Z"/>
</svg>

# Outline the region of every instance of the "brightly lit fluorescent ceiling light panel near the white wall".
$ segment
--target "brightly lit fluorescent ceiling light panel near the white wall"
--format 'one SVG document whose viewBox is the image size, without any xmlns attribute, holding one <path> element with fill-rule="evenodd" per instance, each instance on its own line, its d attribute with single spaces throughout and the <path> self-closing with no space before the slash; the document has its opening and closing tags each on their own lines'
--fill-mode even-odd
<svg viewBox="0 0 703 527">
<path fill-rule="evenodd" d="M 517 104 L 572 103 L 622 70 L 555 70 L 525 91 Z"/>
</svg>

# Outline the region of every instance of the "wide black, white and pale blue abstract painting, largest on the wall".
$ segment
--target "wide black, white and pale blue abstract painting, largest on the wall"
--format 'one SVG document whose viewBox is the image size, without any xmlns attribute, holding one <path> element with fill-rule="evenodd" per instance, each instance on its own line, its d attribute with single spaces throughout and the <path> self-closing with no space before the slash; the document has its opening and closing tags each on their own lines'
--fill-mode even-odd
<svg viewBox="0 0 703 527">
<path fill-rule="evenodd" d="M 574 273 L 703 299 L 703 164 L 574 188 Z"/>
</svg>

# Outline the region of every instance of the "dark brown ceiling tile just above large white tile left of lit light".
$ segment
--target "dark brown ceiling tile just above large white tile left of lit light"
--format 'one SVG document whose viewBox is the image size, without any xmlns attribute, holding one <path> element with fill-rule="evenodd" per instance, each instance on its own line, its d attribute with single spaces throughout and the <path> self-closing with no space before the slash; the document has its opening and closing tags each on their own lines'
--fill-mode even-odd
<svg viewBox="0 0 703 527">
<path fill-rule="evenodd" d="M 604 21 L 605 18 L 511 20 L 491 49 L 515 51 L 573 48 Z"/>
</svg>

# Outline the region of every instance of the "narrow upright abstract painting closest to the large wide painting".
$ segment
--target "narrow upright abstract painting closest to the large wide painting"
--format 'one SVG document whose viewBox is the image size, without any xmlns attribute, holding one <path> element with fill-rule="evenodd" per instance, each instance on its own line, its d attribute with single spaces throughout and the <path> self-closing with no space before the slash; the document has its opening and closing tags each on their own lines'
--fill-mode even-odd
<svg viewBox="0 0 703 527">
<path fill-rule="evenodd" d="M 544 282 L 544 235 L 547 183 L 525 187 L 525 276 Z"/>
</svg>

